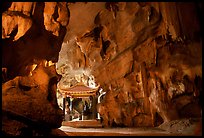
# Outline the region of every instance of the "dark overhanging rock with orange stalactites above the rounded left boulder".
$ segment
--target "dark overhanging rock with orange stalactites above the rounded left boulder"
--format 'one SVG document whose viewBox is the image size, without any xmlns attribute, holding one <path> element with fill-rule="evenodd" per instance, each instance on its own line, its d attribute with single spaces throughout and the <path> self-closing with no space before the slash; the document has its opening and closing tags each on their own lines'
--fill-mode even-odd
<svg viewBox="0 0 204 138">
<path fill-rule="evenodd" d="M 57 62 L 69 22 L 66 2 L 5 2 L 2 67 L 8 80 L 29 75 L 33 64 Z"/>
</svg>

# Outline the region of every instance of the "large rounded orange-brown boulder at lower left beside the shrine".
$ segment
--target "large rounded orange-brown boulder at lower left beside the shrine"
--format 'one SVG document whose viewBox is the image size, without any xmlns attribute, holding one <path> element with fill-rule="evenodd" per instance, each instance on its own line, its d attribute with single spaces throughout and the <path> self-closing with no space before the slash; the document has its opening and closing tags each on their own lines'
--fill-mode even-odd
<svg viewBox="0 0 204 138">
<path fill-rule="evenodd" d="M 56 84 L 59 79 L 55 66 L 38 65 L 32 76 L 16 77 L 4 83 L 2 109 L 5 117 L 2 130 L 9 135 L 23 135 L 23 129 L 32 130 L 34 127 L 29 121 L 26 122 L 26 119 L 38 124 L 39 129 L 43 126 L 50 129 L 60 127 L 63 113 L 56 99 Z M 24 118 L 22 120 L 25 122 L 18 120 L 19 117 Z M 10 130 L 11 126 L 15 129 Z M 44 133 L 48 132 L 44 130 Z"/>
</svg>

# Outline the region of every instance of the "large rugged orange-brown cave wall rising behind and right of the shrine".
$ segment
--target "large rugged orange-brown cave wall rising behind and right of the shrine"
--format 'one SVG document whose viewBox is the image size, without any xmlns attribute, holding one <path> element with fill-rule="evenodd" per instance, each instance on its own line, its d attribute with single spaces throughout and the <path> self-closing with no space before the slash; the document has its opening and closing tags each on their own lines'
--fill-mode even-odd
<svg viewBox="0 0 204 138">
<path fill-rule="evenodd" d="M 104 126 L 158 126 L 200 117 L 198 7 L 180 2 L 71 3 L 63 43 L 67 52 L 60 51 L 61 57 L 68 53 L 63 59 L 67 65 L 60 58 L 58 70 L 91 71 L 106 91 L 98 104 Z"/>
</svg>

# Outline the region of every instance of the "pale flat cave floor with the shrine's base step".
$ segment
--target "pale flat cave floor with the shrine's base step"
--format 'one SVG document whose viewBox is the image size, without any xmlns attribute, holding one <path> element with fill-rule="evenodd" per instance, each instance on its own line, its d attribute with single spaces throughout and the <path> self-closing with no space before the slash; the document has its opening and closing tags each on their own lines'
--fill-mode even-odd
<svg viewBox="0 0 204 138">
<path fill-rule="evenodd" d="M 59 128 L 68 136 L 184 136 L 185 134 L 170 133 L 152 128 L 104 128 L 98 121 L 66 121 Z"/>
</svg>

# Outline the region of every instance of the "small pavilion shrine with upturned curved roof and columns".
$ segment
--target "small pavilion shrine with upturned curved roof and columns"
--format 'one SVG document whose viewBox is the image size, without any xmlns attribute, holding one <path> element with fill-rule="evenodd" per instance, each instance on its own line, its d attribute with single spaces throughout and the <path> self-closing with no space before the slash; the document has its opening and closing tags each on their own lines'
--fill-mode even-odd
<svg viewBox="0 0 204 138">
<path fill-rule="evenodd" d="M 90 87 L 83 83 L 69 88 L 59 87 L 58 90 L 63 95 L 64 121 L 96 119 L 99 87 L 100 85 Z"/>
</svg>

